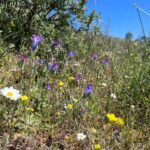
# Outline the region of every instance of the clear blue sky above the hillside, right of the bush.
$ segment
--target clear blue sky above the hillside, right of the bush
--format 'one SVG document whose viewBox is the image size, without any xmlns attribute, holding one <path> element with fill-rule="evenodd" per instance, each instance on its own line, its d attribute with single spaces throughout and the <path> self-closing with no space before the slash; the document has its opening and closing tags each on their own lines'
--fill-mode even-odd
<svg viewBox="0 0 150 150">
<path fill-rule="evenodd" d="M 130 31 L 137 38 L 142 36 L 142 30 L 134 3 L 150 13 L 150 0 L 89 0 L 86 8 L 101 13 L 102 30 L 109 20 L 109 35 L 124 37 Z M 150 36 L 150 16 L 141 12 L 141 17 L 146 36 Z"/>
</svg>

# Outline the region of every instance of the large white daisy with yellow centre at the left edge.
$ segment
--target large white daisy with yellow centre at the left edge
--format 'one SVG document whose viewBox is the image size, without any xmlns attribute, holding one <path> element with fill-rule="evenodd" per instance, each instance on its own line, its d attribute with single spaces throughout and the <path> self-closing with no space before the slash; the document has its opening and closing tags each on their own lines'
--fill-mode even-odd
<svg viewBox="0 0 150 150">
<path fill-rule="evenodd" d="M 12 86 L 0 89 L 0 94 L 14 101 L 19 99 L 21 96 L 20 91 L 14 89 Z"/>
</svg>

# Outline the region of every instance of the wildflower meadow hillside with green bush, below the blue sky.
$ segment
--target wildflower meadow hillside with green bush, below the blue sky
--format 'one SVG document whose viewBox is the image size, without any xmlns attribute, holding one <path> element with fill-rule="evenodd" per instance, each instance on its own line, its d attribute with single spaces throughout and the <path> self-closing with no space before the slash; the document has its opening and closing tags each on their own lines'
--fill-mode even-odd
<svg viewBox="0 0 150 150">
<path fill-rule="evenodd" d="M 103 35 L 85 3 L 2 3 L 0 150 L 150 149 L 150 42 Z"/>
</svg>

